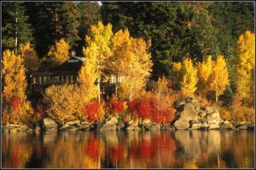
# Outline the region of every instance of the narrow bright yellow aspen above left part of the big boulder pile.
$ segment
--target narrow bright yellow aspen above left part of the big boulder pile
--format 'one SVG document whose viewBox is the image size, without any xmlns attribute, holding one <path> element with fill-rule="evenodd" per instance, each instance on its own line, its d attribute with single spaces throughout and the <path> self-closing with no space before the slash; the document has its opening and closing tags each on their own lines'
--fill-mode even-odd
<svg viewBox="0 0 256 170">
<path fill-rule="evenodd" d="M 194 91 L 197 89 L 197 68 L 193 66 L 190 58 L 185 58 L 182 61 L 182 68 L 180 71 L 183 75 L 182 81 L 180 82 L 182 92 L 188 96 L 193 96 Z"/>
</svg>

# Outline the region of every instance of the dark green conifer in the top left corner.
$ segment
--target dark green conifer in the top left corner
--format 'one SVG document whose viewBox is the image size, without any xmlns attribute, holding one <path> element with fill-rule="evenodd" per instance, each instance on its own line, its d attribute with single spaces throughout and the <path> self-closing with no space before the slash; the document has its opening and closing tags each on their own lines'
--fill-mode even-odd
<svg viewBox="0 0 256 170">
<path fill-rule="evenodd" d="M 2 2 L 2 51 L 18 50 L 19 44 L 32 40 L 24 2 Z"/>
</svg>

